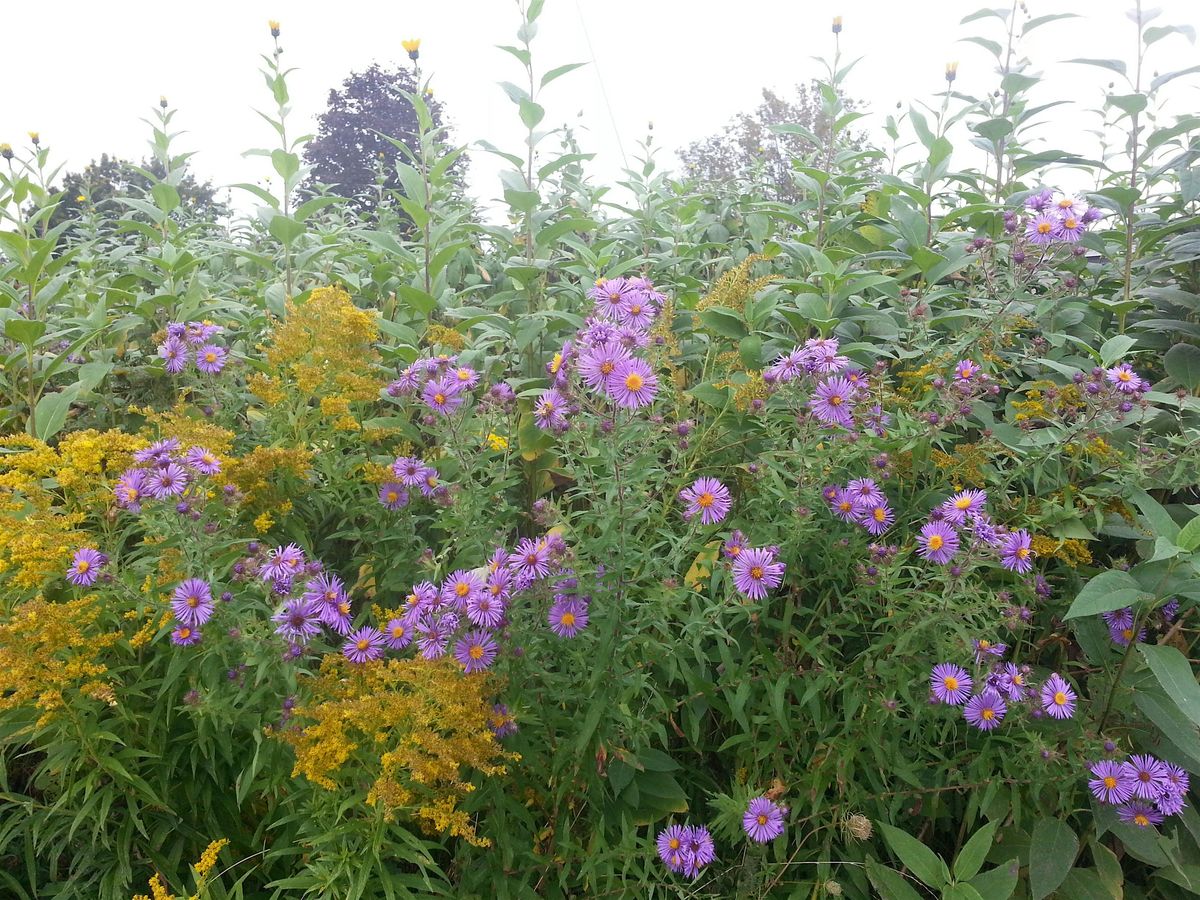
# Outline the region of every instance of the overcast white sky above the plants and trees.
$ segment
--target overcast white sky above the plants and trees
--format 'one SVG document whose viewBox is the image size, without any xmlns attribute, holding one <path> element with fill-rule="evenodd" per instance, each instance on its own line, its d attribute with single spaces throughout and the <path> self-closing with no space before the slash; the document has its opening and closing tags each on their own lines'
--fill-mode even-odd
<svg viewBox="0 0 1200 900">
<path fill-rule="evenodd" d="M 1134 29 L 1124 14 L 1132 0 L 1027 5 L 1031 16 L 1084 17 L 1045 25 L 1027 38 L 1034 68 L 1050 79 L 1037 89 L 1042 98 L 1098 106 L 1108 73 L 1061 61 L 1132 61 Z M 1200 24 L 1195 0 L 1153 5 L 1163 10 L 1156 25 Z M 516 108 L 496 85 L 520 76 L 516 60 L 496 49 L 515 43 L 515 0 L 43 0 L 5 6 L 0 142 L 24 144 L 26 131 L 40 131 L 54 158 L 68 168 L 101 152 L 144 156 L 149 128 L 139 119 L 163 94 L 180 110 L 174 124 L 187 133 L 179 148 L 197 151 L 198 174 L 222 185 L 266 178 L 269 162 L 241 151 L 272 145 L 274 132 L 253 112 L 271 106 L 256 71 L 259 54 L 271 47 L 269 18 L 282 22 L 284 60 L 298 68 L 289 82 L 296 133 L 310 130 L 329 89 L 352 70 L 402 60 L 401 40 L 420 37 L 424 71 L 448 107 L 457 139 L 482 138 L 521 152 Z M 811 56 L 832 53 L 835 14 L 845 19 L 844 55 L 863 58 L 847 91 L 875 113 L 864 122 L 868 128 L 877 130 L 896 101 L 936 103 L 931 96 L 944 85 L 947 60 L 960 60 L 958 89 L 976 95 L 990 90 L 997 82 L 990 56 L 960 42 L 1000 25 L 959 25 L 976 8 L 973 1 L 931 0 L 547 0 L 534 65 L 544 72 L 564 62 L 589 64 L 547 88 L 541 101 L 547 126 L 570 122 L 583 149 L 599 154 L 593 179 L 612 182 L 623 166 L 622 145 L 632 163 L 648 122 L 664 150 L 660 160 L 674 166 L 676 148 L 752 108 L 764 85 L 786 89 L 818 74 Z M 996 31 L 989 36 L 1000 40 Z M 1148 68 L 1198 62 L 1198 48 L 1171 36 L 1152 48 Z M 1180 79 L 1171 90 L 1176 110 L 1200 110 L 1200 78 Z M 1058 144 L 1074 149 L 1070 132 L 1090 124 L 1072 112 L 1056 115 L 1049 127 L 1067 132 Z M 548 148 L 557 150 L 557 142 L 550 139 Z M 487 203 L 500 193 L 497 164 L 482 151 L 472 157 L 473 192 Z"/>
</svg>

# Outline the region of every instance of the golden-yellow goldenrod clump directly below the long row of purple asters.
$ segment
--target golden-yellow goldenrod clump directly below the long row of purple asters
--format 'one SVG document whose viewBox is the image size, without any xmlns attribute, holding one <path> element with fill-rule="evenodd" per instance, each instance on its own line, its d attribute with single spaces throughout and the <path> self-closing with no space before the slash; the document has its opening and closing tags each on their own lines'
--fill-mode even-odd
<svg viewBox="0 0 1200 900">
<path fill-rule="evenodd" d="M 301 727 L 277 732 L 295 749 L 293 776 L 334 790 L 373 776 L 370 805 L 415 816 L 431 832 L 484 846 L 458 803 L 474 790 L 463 767 L 503 773 L 514 758 L 488 727 L 486 680 L 451 660 L 390 659 L 355 666 L 329 654 L 295 709 Z"/>
</svg>

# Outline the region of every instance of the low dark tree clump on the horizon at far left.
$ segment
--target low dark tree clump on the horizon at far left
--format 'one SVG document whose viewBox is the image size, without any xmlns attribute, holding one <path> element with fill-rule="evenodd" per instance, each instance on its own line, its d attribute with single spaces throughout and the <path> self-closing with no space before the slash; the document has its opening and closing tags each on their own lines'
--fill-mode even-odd
<svg viewBox="0 0 1200 900">
<path fill-rule="evenodd" d="M 92 160 L 82 172 L 68 172 L 62 176 L 62 199 L 50 216 L 50 227 L 86 212 L 98 212 L 101 218 L 116 220 L 130 216 L 131 210 L 118 198 L 145 197 L 156 180 L 167 176 L 167 167 L 158 160 L 144 160 L 140 164 L 103 154 Z M 198 181 L 185 174 L 176 185 L 180 205 L 199 218 L 215 220 L 229 214 L 229 208 L 216 197 L 211 181 Z M 133 214 L 136 215 L 136 214 Z"/>
</svg>

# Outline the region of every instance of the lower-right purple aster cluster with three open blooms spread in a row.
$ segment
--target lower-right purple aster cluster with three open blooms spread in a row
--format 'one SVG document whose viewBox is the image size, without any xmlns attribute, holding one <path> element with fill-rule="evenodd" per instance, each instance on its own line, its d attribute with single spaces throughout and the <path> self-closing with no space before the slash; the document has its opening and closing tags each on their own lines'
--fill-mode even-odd
<svg viewBox="0 0 1200 900">
<path fill-rule="evenodd" d="M 1051 672 L 1038 688 L 1030 678 L 1032 670 L 1028 666 L 1000 661 L 1007 649 L 992 641 L 974 642 L 977 666 L 988 659 L 995 660 L 978 685 L 962 666 L 954 662 L 934 666 L 929 676 L 930 702 L 962 707 L 962 718 L 979 731 L 997 727 L 1009 707 L 1019 703 L 1026 703 L 1034 719 L 1046 715 L 1070 719 L 1078 697 L 1067 679 Z M 977 686 L 979 690 L 972 692 Z"/>
</svg>

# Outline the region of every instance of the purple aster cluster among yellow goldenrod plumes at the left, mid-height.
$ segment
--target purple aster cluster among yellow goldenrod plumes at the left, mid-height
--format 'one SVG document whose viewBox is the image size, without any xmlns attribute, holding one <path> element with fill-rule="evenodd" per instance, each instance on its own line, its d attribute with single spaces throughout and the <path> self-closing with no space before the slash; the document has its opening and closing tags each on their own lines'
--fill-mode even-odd
<svg viewBox="0 0 1200 900">
<path fill-rule="evenodd" d="M 126 469 L 113 486 L 116 505 L 130 512 L 140 512 L 146 499 L 176 499 L 175 510 L 180 515 L 200 517 L 196 509 L 206 499 L 205 491 L 197 486 L 197 479 L 203 475 L 216 475 L 221 472 L 221 460 L 211 450 L 203 446 L 181 449 L 178 439 L 157 440 L 150 446 L 133 454 L 133 461 L 139 463 Z M 238 490 L 233 485 L 223 488 L 226 500 L 236 500 Z"/>
</svg>

